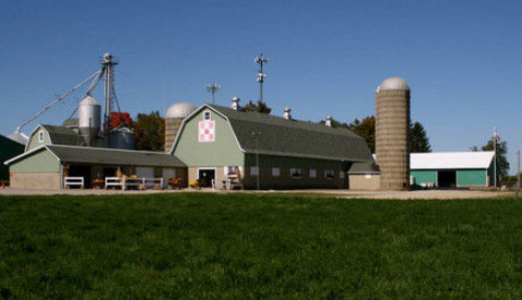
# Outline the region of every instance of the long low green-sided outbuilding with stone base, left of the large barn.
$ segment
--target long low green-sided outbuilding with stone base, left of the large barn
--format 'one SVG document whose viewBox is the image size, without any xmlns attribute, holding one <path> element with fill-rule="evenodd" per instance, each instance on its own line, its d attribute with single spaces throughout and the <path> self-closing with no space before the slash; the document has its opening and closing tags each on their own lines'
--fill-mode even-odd
<svg viewBox="0 0 522 300">
<path fill-rule="evenodd" d="M 65 177 L 82 177 L 86 188 L 92 187 L 94 179 L 133 175 L 186 183 L 186 165 L 161 152 L 42 145 L 5 163 L 11 186 L 18 189 L 60 189 Z"/>
</svg>

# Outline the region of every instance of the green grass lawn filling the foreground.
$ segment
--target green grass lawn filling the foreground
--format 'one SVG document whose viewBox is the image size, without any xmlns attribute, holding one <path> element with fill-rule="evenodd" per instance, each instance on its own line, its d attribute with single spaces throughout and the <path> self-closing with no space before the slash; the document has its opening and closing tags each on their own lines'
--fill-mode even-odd
<svg viewBox="0 0 522 300">
<path fill-rule="evenodd" d="M 0 197 L 4 298 L 522 297 L 522 201 Z"/>
</svg>

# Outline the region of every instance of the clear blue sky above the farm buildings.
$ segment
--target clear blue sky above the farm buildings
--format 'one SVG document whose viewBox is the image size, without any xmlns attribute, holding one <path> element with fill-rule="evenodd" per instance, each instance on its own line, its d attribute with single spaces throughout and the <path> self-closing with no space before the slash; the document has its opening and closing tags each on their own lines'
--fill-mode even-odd
<svg viewBox="0 0 522 300">
<path fill-rule="evenodd" d="M 119 58 L 122 110 L 258 98 L 259 52 L 270 57 L 264 99 L 299 120 L 374 114 L 390 76 L 412 90 L 412 118 L 434 151 L 467 151 L 497 126 L 509 160 L 522 147 L 521 1 L 7 1 L 0 0 L 0 134 Z M 82 92 L 29 124 L 60 124 Z M 97 97 L 101 100 L 101 97 Z"/>
</svg>

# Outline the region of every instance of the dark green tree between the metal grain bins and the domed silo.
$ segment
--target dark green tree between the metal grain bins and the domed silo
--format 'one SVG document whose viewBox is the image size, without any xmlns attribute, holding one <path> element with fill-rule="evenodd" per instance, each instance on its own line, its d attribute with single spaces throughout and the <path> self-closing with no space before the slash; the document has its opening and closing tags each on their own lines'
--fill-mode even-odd
<svg viewBox="0 0 522 300">
<path fill-rule="evenodd" d="M 160 112 L 138 113 L 135 122 L 136 150 L 164 151 L 165 121 Z"/>
</svg>

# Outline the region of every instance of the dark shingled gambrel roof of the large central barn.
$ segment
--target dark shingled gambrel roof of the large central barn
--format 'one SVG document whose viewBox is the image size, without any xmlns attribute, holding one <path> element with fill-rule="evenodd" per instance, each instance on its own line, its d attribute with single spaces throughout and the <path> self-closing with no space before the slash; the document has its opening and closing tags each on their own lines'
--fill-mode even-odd
<svg viewBox="0 0 522 300">
<path fill-rule="evenodd" d="M 363 162 L 371 158 L 364 139 L 346 128 L 236 111 L 219 105 L 203 107 L 217 111 L 228 120 L 240 148 L 247 153 L 259 151 L 260 154 L 269 155 L 356 162 Z M 256 147 L 256 136 L 258 147 Z"/>
</svg>

